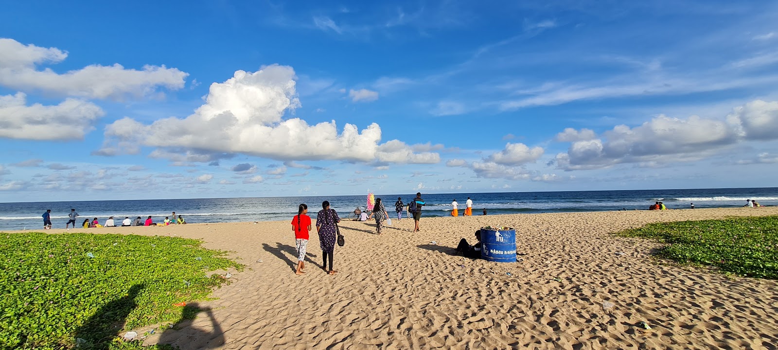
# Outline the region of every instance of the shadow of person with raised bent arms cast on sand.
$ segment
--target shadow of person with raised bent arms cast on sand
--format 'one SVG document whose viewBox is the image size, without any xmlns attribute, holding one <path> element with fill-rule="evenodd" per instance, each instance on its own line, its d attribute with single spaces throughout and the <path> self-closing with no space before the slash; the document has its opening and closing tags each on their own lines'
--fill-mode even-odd
<svg viewBox="0 0 778 350">
<path fill-rule="evenodd" d="M 198 327 L 193 327 L 195 318 L 198 314 L 205 312 L 211 321 L 211 330 L 206 331 Z M 189 328 L 184 334 L 178 334 L 180 330 Z M 195 332 L 192 332 L 195 330 Z M 224 345 L 224 331 L 219 325 L 219 321 L 216 321 L 216 317 L 213 317 L 213 310 L 210 307 L 200 307 L 198 303 L 191 303 L 181 310 L 181 317 L 176 321 L 172 327 L 166 329 L 162 335 L 159 336 L 158 344 L 175 344 L 178 348 L 219 348 Z"/>
</svg>

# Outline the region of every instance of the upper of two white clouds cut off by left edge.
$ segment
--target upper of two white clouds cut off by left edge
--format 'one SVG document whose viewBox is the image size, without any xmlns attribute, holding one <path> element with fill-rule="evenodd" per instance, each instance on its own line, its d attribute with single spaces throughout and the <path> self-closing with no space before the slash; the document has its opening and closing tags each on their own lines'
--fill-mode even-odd
<svg viewBox="0 0 778 350">
<path fill-rule="evenodd" d="M 187 73 L 176 68 L 146 65 L 142 70 L 126 69 L 121 64 L 89 65 L 58 74 L 39 64 L 57 64 L 68 57 L 55 47 L 24 45 L 16 40 L 0 38 L 0 85 L 23 91 L 74 96 L 85 99 L 124 99 L 158 92 L 158 88 L 184 87 Z"/>
</svg>

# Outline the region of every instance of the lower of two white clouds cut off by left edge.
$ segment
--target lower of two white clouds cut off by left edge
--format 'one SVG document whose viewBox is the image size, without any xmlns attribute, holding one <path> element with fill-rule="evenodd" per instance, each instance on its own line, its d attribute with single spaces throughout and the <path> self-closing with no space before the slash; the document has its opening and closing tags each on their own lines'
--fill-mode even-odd
<svg viewBox="0 0 778 350">
<path fill-rule="evenodd" d="M 0 137 L 26 140 L 81 140 L 94 130 L 103 109 L 91 102 L 65 99 L 56 106 L 26 106 L 26 95 L 0 96 Z"/>
</svg>

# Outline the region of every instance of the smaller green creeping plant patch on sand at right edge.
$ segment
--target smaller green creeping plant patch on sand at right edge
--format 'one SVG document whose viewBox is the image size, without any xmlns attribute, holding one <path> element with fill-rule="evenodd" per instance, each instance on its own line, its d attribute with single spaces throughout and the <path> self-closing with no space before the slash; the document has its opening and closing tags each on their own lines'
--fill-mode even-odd
<svg viewBox="0 0 778 350">
<path fill-rule="evenodd" d="M 675 262 L 715 266 L 736 275 L 778 279 L 778 217 L 648 224 L 617 233 L 668 245 L 657 255 Z"/>
</svg>

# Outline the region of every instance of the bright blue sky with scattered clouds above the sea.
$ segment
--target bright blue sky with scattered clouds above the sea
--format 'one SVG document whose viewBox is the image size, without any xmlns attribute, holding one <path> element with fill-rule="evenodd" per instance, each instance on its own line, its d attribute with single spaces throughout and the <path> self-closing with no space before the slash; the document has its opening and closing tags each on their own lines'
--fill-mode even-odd
<svg viewBox="0 0 778 350">
<path fill-rule="evenodd" d="M 13 2 L 0 201 L 774 186 L 778 3 Z"/>
</svg>

